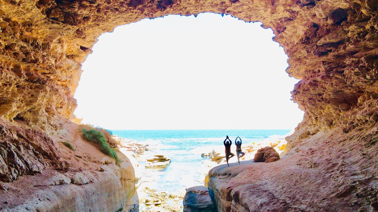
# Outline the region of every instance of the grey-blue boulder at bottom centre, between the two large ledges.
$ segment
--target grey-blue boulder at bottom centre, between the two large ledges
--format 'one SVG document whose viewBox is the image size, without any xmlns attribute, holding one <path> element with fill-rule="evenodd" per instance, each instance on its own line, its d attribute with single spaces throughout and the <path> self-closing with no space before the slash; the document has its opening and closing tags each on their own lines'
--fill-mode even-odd
<svg viewBox="0 0 378 212">
<path fill-rule="evenodd" d="M 186 190 L 184 212 L 215 212 L 214 204 L 205 186 L 194 186 Z"/>
</svg>

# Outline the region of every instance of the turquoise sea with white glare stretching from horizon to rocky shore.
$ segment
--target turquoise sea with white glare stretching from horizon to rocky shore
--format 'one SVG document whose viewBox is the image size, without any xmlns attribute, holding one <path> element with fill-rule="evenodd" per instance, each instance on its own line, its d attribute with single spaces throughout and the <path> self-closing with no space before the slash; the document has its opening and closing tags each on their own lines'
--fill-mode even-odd
<svg viewBox="0 0 378 212">
<path fill-rule="evenodd" d="M 144 161 L 139 164 L 144 169 L 143 177 L 154 178 L 154 189 L 167 193 L 185 192 L 194 185 L 203 184 L 201 151 L 210 152 L 213 146 L 223 146 L 226 135 L 234 141 L 237 136 L 243 144 L 265 139 L 279 139 L 290 130 L 113 130 L 114 135 L 149 144 L 152 149 L 146 154 L 162 154 L 171 159 L 165 169 L 144 169 Z M 232 149 L 234 149 L 232 145 Z M 203 152 L 203 151 L 202 151 Z M 148 180 L 148 179 L 147 179 Z"/>
</svg>

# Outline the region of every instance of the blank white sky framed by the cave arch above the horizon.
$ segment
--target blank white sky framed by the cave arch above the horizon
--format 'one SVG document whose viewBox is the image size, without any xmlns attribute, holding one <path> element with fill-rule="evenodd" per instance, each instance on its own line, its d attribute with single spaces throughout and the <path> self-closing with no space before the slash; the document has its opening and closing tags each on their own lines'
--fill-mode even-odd
<svg viewBox="0 0 378 212">
<path fill-rule="evenodd" d="M 293 129 L 298 82 L 273 31 L 169 15 L 105 33 L 83 63 L 77 117 L 108 129 Z"/>
</svg>

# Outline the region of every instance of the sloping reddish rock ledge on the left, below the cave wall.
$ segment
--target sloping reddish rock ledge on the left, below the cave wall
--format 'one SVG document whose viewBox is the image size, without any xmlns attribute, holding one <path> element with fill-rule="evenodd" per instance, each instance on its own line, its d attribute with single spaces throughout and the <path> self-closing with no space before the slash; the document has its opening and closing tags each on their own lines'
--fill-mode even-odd
<svg viewBox="0 0 378 212">
<path fill-rule="evenodd" d="M 139 178 L 129 158 L 118 152 L 116 165 L 81 138 L 81 126 L 62 123 L 46 135 L 0 119 L 1 212 L 118 212 L 132 197 Z"/>
</svg>

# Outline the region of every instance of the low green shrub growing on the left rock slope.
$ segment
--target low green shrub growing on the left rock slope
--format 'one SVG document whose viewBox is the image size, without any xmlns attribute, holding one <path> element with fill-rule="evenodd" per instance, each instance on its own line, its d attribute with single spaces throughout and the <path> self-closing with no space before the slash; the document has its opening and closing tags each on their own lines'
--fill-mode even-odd
<svg viewBox="0 0 378 212">
<path fill-rule="evenodd" d="M 119 160 L 116 151 L 112 147 L 109 146 L 109 144 L 106 142 L 104 135 L 102 135 L 101 132 L 95 129 L 90 129 L 90 130 L 82 129 L 82 131 L 83 131 L 83 138 L 85 140 L 98 144 L 100 146 L 100 150 L 102 153 L 116 159 L 118 166 L 121 165 L 121 160 Z"/>
</svg>

